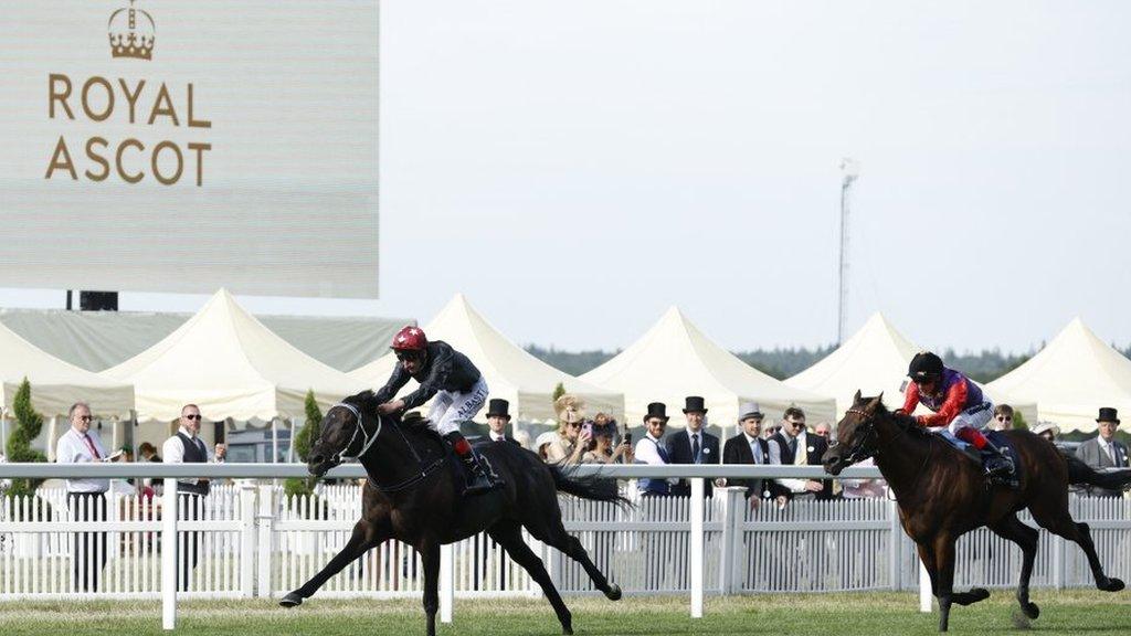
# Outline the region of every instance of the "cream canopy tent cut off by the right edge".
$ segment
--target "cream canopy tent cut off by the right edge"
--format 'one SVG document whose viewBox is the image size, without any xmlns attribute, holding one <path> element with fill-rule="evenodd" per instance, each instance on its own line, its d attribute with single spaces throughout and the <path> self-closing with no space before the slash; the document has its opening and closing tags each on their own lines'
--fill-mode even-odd
<svg viewBox="0 0 1131 636">
<path fill-rule="evenodd" d="M 1096 430 L 1100 406 L 1131 412 L 1131 360 L 1074 318 L 1031 360 L 990 388 L 1036 402 L 1042 420 L 1061 430 Z"/>
</svg>

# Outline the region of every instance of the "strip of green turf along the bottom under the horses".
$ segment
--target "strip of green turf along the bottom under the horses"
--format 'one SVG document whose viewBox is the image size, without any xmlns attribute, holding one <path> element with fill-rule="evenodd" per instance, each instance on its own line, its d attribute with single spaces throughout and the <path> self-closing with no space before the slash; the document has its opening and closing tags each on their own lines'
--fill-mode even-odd
<svg viewBox="0 0 1131 636">
<path fill-rule="evenodd" d="M 1082 636 L 1131 634 L 1131 593 L 1037 591 L 1033 600 L 1042 616 L 1033 634 Z M 862 634 L 888 636 L 934 634 L 935 614 L 922 614 L 913 594 L 792 594 L 710 598 L 705 618 L 688 616 L 687 598 L 567 599 L 579 635 Z M 1018 633 L 1017 605 L 1010 591 L 995 591 L 983 603 L 955 608 L 953 634 Z M 550 605 L 542 600 L 457 601 L 456 621 L 440 625 L 440 635 L 560 634 Z M 416 601 L 330 600 L 317 596 L 285 610 L 274 601 L 185 601 L 180 605 L 180 631 L 192 635 L 288 636 L 311 634 L 424 634 L 424 616 Z M 0 634 L 162 634 L 156 601 L 66 601 L 0 603 Z"/>
</svg>

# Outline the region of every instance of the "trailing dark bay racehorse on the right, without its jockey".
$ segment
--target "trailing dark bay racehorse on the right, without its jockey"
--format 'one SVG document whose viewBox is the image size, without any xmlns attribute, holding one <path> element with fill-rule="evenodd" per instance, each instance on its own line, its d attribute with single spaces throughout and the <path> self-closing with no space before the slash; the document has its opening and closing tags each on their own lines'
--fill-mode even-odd
<svg viewBox="0 0 1131 636">
<path fill-rule="evenodd" d="M 875 465 L 899 504 L 904 532 L 915 541 L 931 576 L 931 588 L 939 600 L 940 631 L 947 630 L 951 603 L 969 605 L 990 598 L 990 592 L 982 587 L 953 591 L 955 542 L 981 526 L 1021 548 L 1017 600 L 1030 619 L 1041 613 L 1036 603 L 1029 601 L 1038 533 L 1017 518 L 1024 508 L 1029 509 L 1042 527 L 1083 549 L 1096 587 L 1105 592 L 1123 590 L 1122 581 L 1104 574 L 1088 524 L 1076 523 L 1069 514 L 1068 488 L 1070 484 L 1125 488 L 1131 483 L 1131 469 L 1097 473 L 1048 440 L 1029 431 L 1013 430 L 1005 435 L 1020 459 L 1020 483 L 1016 489 L 988 488 L 982 466 L 920 427 L 914 418 L 888 412 L 882 398 L 883 394 L 861 397 L 856 392 L 852 409 L 837 424 L 837 442 L 821 462 L 826 472 L 838 475 L 846 466 L 875 457 Z"/>
</svg>

